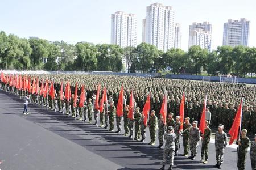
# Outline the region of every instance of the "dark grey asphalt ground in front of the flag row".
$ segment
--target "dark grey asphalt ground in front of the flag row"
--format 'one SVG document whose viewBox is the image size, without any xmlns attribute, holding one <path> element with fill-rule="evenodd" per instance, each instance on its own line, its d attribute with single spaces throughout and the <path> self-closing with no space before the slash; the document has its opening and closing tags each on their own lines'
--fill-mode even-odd
<svg viewBox="0 0 256 170">
<path fill-rule="evenodd" d="M 23 100 L 0 90 L 0 169 L 159 169 L 163 150 L 133 141 L 88 122 L 29 104 L 22 115 Z M 116 127 L 115 127 L 116 128 Z M 116 130 L 116 129 L 115 129 Z M 158 140 L 156 140 L 158 146 Z M 214 144 L 209 145 L 208 164 L 175 156 L 173 169 L 217 169 Z M 249 153 L 246 169 L 250 168 Z M 166 169 L 168 166 L 166 167 Z M 227 147 L 222 169 L 236 168 L 236 150 Z"/>
</svg>

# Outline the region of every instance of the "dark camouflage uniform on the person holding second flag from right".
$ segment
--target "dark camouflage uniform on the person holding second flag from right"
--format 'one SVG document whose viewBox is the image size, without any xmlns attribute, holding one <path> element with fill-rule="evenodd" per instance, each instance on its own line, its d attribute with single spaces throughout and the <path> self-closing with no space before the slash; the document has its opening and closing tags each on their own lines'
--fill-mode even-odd
<svg viewBox="0 0 256 170">
<path fill-rule="evenodd" d="M 204 159 L 205 156 L 205 161 L 208 160 L 208 155 L 209 155 L 209 142 L 210 142 L 210 135 L 212 133 L 212 130 L 208 127 L 207 129 L 204 129 L 204 136 L 203 136 L 203 142 L 202 142 L 202 148 L 201 148 L 201 160 Z"/>
</svg>

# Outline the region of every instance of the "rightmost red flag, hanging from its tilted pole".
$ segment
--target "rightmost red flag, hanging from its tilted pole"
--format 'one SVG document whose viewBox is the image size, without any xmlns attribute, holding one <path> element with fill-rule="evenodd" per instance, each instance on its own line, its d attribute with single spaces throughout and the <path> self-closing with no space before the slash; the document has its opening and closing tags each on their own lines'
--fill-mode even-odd
<svg viewBox="0 0 256 170">
<path fill-rule="evenodd" d="M 234 118 L 234 122 L 232 127 L 229 130 L 229 145 L 231 145 L 234 140 L 237 139 L 238 133 L 239 133 L 239 128 L 241 128 L 241 122 L 242 122 L 242 108 L 243 108 L 243 99 L 241 100 L 240 106 L 237 110 L 236 117 Z"/>
</svg>

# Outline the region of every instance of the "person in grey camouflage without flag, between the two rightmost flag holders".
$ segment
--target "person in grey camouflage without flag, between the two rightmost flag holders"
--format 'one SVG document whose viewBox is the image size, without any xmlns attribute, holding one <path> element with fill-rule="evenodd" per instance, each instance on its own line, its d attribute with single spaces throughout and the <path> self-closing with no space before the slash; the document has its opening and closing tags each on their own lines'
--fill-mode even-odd
<svg viewBox="0 0 256 170">
<path fill-rule="evenodd" d="M 227 135 L 223 131 L 224 125 L 218 125 L 218 131 L 215 133 L 215 151 L 216 151 L 216 165 L 214 167 L 221 169 L 221 164 L 224 158 L 224 149 L 227 145 Z"/>
</svg>

